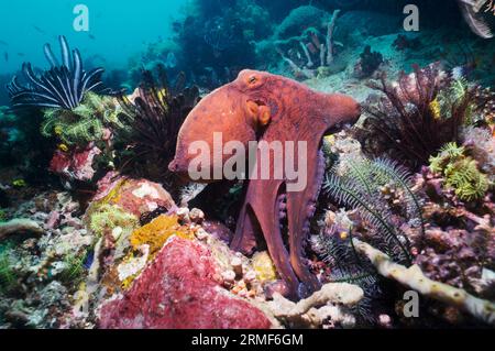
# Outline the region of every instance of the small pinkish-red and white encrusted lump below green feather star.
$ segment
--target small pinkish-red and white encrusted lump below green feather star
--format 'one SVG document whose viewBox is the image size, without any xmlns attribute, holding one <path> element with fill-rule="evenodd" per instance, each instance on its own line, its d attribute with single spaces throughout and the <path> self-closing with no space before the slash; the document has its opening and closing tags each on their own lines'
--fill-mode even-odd
<svg viewBox="0 0 495 351">
<path fill-rule="evenodd" d="M 91 180 L 96 173 L 92 162 L 99 154 L 101 150 L 94 145 L 72 153 L 57 150 L 50 163 L 50 171 L 70 180 Z"/>
</svg>

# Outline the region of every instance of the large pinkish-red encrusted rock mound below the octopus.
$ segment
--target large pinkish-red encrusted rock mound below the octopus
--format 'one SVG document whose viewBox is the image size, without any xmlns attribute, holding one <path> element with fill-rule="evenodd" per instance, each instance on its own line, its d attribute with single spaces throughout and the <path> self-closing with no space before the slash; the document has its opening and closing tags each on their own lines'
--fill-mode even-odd
<svg viewBox="0 0 495 351">
<path fill-rule="evenodd" d="M 174 238 L 120 299 L 101 308 L 105 329 L 266 329 L 268 318 L 221 287 L 201 244 Z"/>
</svg>

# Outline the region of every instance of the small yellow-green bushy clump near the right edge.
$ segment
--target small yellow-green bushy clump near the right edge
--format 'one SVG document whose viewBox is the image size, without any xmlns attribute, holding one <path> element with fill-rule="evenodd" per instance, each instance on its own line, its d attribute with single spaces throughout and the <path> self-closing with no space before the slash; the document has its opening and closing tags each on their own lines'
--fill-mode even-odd
<svg viewBox="0 0 495 351">
<path fill-rule="evenodd" d="M 465 152 L 464 146 L 448 143 L 436 157 L 430 157 L 430 168 L 444 176 L 446 186 L 453 188 L 461 200 L 473 201 L 484 197 L 491 184 Z"/>
</svg>

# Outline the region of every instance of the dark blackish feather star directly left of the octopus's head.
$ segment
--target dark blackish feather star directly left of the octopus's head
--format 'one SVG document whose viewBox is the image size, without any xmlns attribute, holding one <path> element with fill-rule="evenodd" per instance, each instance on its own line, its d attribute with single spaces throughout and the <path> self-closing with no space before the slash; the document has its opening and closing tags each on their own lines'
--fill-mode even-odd
<svg viewBox="0 0 495 351">
<path fill-rule="evenodd" d="M 117 131 L 120 142 L 129 145 L 119 157 L 120 168 L 152 180 L 172 182 L 167 169 L 174 158 L 177 134 L 198 101 L 196 87 L 170 88 L 163 66 L 158 68 L 158 84 L 151 72 L 143 72 L 143 84 L 134 101 L 120 98 L 123 110 L 131 116 L 129 128 Z"/>
</svg>

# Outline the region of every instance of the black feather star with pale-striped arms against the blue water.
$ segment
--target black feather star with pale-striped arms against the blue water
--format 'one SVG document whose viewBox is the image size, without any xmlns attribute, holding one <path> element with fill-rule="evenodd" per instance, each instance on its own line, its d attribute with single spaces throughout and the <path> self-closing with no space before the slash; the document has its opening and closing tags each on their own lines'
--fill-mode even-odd
<svg viewBox="0 0 495 351">
<path fill-rule="evenodd" d="M 103 92 L 101 75 L 103 68 L 86 72 L 79 51 L 69 46 L 65 36 L 58 37 L 62 48 L 62 65 L 52 52 L 50 44 L 45 44 L 44 52 L 51 69 L 37 76 L 30 63 L 22 65 L 22 72 L 28 81 L 26 86 L 19 84 L 14 76 L 7 86 L 13 108 L 63 108 L 72 110 L 82 101 L 85 92 Z"/>
</svg>

